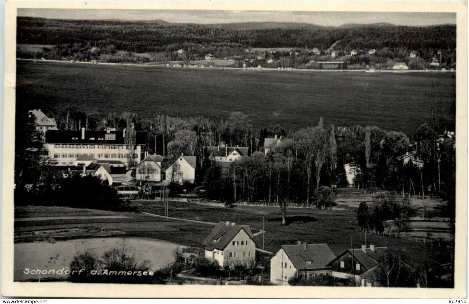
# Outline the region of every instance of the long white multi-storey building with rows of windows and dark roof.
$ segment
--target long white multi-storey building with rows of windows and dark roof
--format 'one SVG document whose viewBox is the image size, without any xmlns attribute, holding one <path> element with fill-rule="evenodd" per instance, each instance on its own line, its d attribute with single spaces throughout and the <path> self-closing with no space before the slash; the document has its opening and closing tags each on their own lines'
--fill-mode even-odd
<svg viewBox="0 0 469 304">
<path fill-rule="evenodd" d="M 98 161 L 119 161 L 126 167 L 139 163 L 146 152 L 146 132 L 136 132 L 135 138 L 126 141 L 126 130 L 81 131 L 49 130 L 45 134 L 45 148 L 56 165 L 73 165 L 87 154 Z M 132 154 L 132 155 L 130 155 Z M 132 163 L 129 164 L 129 158 Z"/>
</svg>

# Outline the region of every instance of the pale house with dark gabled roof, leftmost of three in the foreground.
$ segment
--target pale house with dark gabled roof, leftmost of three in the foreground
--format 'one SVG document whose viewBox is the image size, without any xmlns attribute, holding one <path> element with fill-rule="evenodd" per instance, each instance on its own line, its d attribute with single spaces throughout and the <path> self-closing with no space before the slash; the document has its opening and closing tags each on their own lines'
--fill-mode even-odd
<svg viewBox="0 0 469 304">
<path fill-rule="evenodd" d="M 256 243 L 249 225 L 219 222 L 202 242 L 204 256 L 220 267 L 250 264 L 256 260 Z"/>
</svg>

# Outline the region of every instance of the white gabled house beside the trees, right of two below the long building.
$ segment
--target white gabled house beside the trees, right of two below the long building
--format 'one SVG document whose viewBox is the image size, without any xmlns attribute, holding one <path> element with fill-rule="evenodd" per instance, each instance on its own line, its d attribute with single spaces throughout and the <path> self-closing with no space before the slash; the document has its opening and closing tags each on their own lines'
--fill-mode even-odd
<svg viewBox="0 0 469 304">
<path fill-rule="evenodd" d="M 195 183 L 197 156 L 185 156 L 182 154 L 170 163 L 165 169 L 165 184 L 169 183 Z M 164 166 L 163 166 L 164 167 Z"/>
</svg>

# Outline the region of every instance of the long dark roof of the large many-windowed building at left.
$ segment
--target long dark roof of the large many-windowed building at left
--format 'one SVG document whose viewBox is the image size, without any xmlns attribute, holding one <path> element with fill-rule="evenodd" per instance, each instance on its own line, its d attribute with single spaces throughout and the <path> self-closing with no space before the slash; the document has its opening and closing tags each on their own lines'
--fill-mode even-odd
<svg viewBox="0 0 469 304">
<path fill-rule="evenodd" d="M 107 139 L 106 134 L 115 134 L 115 139 Z M 123 145 L 125 144 L 123 131 L 111 131 L 106 133 L 102 131 L 85 130 L 85 138 L 82 139 L 82 131 L 75 130 L 49 130 L 45 134 L 45 142 L 47 143 L 67 143 L 67 144 L 106 144 L 106 145 Z M 136 145 L 146 144 L 146 132 L 136 132 Z M 73 139 L 76 138 L 76 139 Z M 94 139 L 91 139 L 94 138 Z M 101 138 L 101 139 L 100 139 Z"/>
</svg>

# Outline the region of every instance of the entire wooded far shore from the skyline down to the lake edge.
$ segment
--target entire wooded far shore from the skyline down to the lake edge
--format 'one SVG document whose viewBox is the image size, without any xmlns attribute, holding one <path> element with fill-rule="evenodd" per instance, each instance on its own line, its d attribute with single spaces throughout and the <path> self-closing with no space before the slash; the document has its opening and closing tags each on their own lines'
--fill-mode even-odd
<svg viewBox="0 0 469 304">
<path fill-rule="evenodd" d="M 328 48 L 334 44 L 337 56 L 348 56 L 350 67 L 388 67 L 394 61 L 406 61 L 411 69 L 428 67 L 437 56 L 442 67 L 454 67 L 455 25 L 427 27 L 380 25 L 329 28 L 320 26 L 282 28 L 236 28 L 218 25 L 171 24 L 166 22 L 120 22 L 91 20 L 54 20 L 18 17 L 18 44 L 45 45 L 42 52 L 21 51 L 19 57 L 45 59 L 98 59 L 106 62 L 183 61 L 236 59 L 242 67 L 246 50 L 251 48 L 292 48 L 247 62 L 275 67 L 314 68 L 310 60 L 330 59 Z M 319 54 L 311 50 L 318 48 Z M 183 53 L 176 52 L 183 50 Z M 367 50 L 376 49 L 369 55 Z M 415 51 L 419 58 L 408 58 Z M 148 56 L 141 55 L 149 54 Z M 326 56 L 327 55 L 327 56 Z M 323 57 L 323 58 L 321 58 Z M 276 60 L 268 63 L 269 59 Z"/>
</svg>

